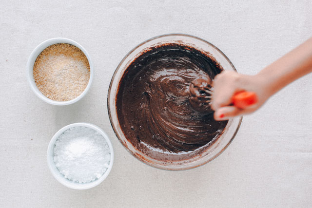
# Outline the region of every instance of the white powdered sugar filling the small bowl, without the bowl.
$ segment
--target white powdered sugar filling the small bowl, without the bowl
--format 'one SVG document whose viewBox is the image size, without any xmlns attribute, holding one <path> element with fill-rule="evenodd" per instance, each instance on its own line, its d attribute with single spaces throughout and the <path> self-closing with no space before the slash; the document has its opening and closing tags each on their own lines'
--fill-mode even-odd
<svg viewBox="0 0 312 208">
<path fill-rule="evenodd" d="M 111 152 L 105 138 L 88 127 L 63 132 L 54 147 L 54 162 L 65 178 L 88 183 L 100 178 L 110 164 Z"/>
</svg>

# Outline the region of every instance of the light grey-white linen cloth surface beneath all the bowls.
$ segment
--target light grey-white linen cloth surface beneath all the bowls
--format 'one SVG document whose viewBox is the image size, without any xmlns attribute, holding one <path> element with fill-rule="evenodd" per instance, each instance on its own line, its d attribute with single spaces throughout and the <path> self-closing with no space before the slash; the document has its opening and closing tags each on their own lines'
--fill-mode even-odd
<svg viewBox="0 0 312 208">
<path fill-rule="evenodd" d="M 233 143 L 194 170 L 149 167 L 119 143 L 107 91 L 119 61 L 156 35 L 186 33 L 255 74 L 312 35 L 312 1 L 0 0 L 0 207 L 312 207 L 312 75 L 245 116 Z M 90 92 L 52 106 L 31 91 L 26 62 L 49 38 L 78 41 L 95 68 Z M 73 190 L 50 173 L 46 150 L 61 127 L 90 122 L 111 138 L 115 163 L 98 187 Z"/>
</svg>

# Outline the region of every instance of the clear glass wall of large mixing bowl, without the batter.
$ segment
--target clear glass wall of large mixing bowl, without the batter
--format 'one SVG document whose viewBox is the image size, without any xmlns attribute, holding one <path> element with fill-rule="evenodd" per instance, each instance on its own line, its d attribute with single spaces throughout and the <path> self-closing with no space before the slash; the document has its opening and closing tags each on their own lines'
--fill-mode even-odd
<svg viewBox="0 0 312 208">
<path fill-rule="evenodd" d="M 138 160 L 144 162 L 147 165 L 153 166 L 155 168 L 164 170 L 187 170 L 204 165 L 213 159 L 215 159 L 219 154 L 221 154 L 234 139 L 239 126 L 242 121 L 242 117 L 235 117 L 229 120 L 224 132 L 215 141 L 211 142 L 208 149 L 198 154 L 192 155 L 192 157 L 185 160 L 178 161 L 160 161 L 150 157 L 147 154 L 137 150 L 128 140 L 127 135 L 125 135 L 119 125 L 116 109 L 116 95 L 118 91 L 118 85 L 120 79 L 128 66 L 137 57 L 141 55 L 144 51 L 151 47 L 156 47 L 163 45 L 165 43 L 177 43 L 187 46 L 194 47 L 195 49 L 202 51 L 203 53 L 209 54 L 210 57 L 214 57 L 215 60 L 222 66 L 226 71 L 236 71 L 233 64 L 217 47 L 215 47 L 210 42 L 185 34 L 168 34 L 161 35 L 151 39 L 148 39 L 141 44 L 137 45 L 132 49 L 119 63 L 117 69 L 112 77 L 109 91 L 108 91 L 108 113 L 112 124 L 112 127 L 121 142 L 121 144 L 134 155 Z"/>
</svg>

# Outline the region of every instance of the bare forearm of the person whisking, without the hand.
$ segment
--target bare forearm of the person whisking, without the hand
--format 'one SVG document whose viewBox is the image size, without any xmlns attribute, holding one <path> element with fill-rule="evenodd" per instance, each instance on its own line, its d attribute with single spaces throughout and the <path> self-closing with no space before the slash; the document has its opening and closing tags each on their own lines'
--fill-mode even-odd
<svg viewBox="0 0 312 208">
<path fill-rule="evenodd" d="M 292 81 L 312 72 L 312 38 L 264 68 L 256 76 L 270 95 Z"/>
</svg>

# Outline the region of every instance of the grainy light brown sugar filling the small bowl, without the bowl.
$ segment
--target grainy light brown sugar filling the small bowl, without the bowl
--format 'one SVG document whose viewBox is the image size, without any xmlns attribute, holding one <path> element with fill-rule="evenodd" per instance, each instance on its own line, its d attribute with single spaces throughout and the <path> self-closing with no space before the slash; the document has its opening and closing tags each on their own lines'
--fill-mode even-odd
<svg viewBox="0 0 312 208">
<path fill-rule="evenodd" d="M 78 97 L 87 87 L 90 65 L 78 47 L 58 43 L 39 54 L 33 76 L 44 96 L 55 101 L 68 101 Z"/>
</svg>

